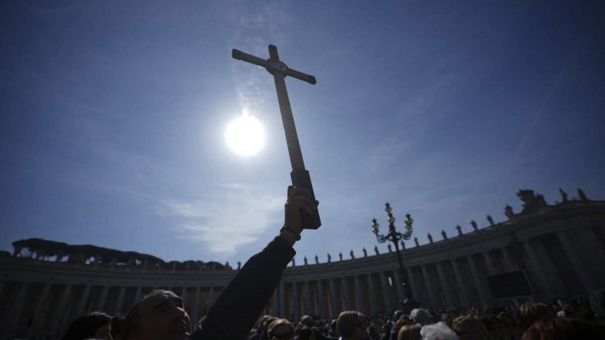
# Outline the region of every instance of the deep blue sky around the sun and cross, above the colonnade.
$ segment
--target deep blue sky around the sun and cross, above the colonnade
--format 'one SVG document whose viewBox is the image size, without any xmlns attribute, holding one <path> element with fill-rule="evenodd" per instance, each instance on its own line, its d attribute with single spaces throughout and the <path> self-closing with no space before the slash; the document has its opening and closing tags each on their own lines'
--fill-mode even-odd
<svg viewBox="0 0 605 340">
<path fill-rule="evenodd" d="M 318 80 L 286 79 L 323 223 L 297 263 L 373 249 L 386 201 L 424 244 L 519 212 L 521 188 L 605 199 L 599 1 L 0 7 L 0 249 L 40 237 L 231 264 L 260 250 L 290 162 L 272 77 L 231 49 L 269 44 Z M 249 157 L 224 140 L 243 110 L 266 132 Z"/>
</svg>

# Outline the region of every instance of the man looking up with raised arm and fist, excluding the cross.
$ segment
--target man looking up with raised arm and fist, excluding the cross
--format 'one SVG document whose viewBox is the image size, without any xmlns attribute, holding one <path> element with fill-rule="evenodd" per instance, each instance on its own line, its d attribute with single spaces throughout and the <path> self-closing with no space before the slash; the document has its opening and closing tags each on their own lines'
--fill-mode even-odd
<svg viewBox="0 0 605 340">
<path fill-rule="evenodd" d="M 191 330 L 183 299 L 168 290 L 154 290 L 139 301 L 124 319 L 125 340 L 246 339 L 281 275 L 295 255 L 292 246 L 300 240 L 302 214 L 315 214 L 318 201 L 309 191 L 289 186 L 280 234 L 250 258 L 227 284 L 204 322 Z"/>
</svg>

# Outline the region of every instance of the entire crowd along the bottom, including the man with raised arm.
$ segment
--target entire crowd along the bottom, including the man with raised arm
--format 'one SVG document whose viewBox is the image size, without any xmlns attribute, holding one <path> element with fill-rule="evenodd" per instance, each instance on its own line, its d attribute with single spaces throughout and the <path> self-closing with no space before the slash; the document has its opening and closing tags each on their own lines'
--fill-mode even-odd
<svg viewBox="0 0 605 340">
<path fill-rule="evenodd" d="M 80 316 L 62 340 L 605 339 L 605 289 L 589 299 L 573 296 L 461 309 L 417 308 L 409 314 L 395 310 L 363 315 L 346 310 L 336 319 L 305 315 L 296 322 L 283 315 L 266 315 L 258 321 L 295 255 L 292 246 L 301 238 L 301 214 L 313 214 L 317 204 L 306 189 L 290 187 L 280 234 L 244 264 L 195 325 L 183 299 L 168 290 L 154 290 L 126 315 L 94 312 Z"/>
</svg>

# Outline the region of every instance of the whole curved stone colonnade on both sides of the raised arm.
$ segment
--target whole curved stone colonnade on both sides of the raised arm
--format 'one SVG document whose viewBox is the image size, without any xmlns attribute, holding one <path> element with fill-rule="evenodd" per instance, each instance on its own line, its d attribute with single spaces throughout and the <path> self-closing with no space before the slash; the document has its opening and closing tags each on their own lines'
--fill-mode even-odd
<svg viewBox="0 0 605 340">
<path fill-rule="evenodd" d="M 433 309 L 492 302 L 485 276 L 512 270 L 525 272 L 537 297 L 605 287 L 605 201 L 537 204 L 509 212 L 503 223 L 402 250 L 414 298 Z M 335 317 L 347 309 L 397 309 L 403 298 L 398 268 L 394 252 L 288 267 L 266 313 L 298 319 L 303 313 Z M 236 272 L 3 256 L 0 338 L 60 336 L 76 316 L 127 312 L 157 288 L 182 296 L 194 322 Z"/>
</svg>

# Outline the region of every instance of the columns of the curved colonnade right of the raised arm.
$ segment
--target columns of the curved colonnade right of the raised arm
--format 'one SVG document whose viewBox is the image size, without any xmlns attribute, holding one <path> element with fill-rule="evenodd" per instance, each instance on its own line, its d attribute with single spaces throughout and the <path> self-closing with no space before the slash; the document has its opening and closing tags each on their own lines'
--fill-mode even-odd
<svg viewBox="0 0 605 340">
<path fill-rule="evenodd" d="M 577 236 L 580 239 L 574 245 L 572 238 Z M 486 276 L 515 270 L 523 270 L 534 295 L 540 297 L 589 294 L 600 287 L 597 281 L 605 284 L 605 270 L 587 267 L 577 250 L 584 244 L 588 247 L 584 255 L 598 255 L 594 263 L 605 264 L 605 247 L 590 229 L 574 232 L 571 238 L 564 231 L 526 238 L 520 241 L 522 249 L 506 243 L 466 253 L 463 251 L 468 249 L 462 248 L 454 255 L 436 252 L 434 255 L 440 256 L 433 256 L 437 258 L 434 261 L 404 260 L 414 299 L 420 306 L 433 309 L 487 304 L 494 298 Z M 330 268 L 318 269 L 312 273 L 318 277 L 306 279 L 294 270 L 286 272 L 272 296 L 269 312 L 296 320 L 304 314 L 334 318 L 349 309 L 367 314 L 399 309 L 399 301 L 404 299 L 401 276 L 392 265 L 394 253 L 390 256 L 393 259 L 385 262 L 390 268 L 384 270 L 374 261 L 359 263 L 366 271 L 368 266 L 375 268 L 364 273 L 352 268 L 335 276 Z"/>
</svg>

